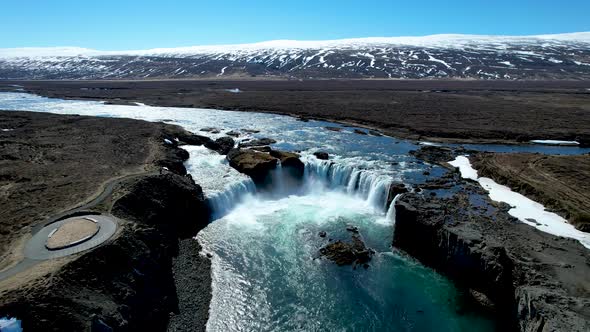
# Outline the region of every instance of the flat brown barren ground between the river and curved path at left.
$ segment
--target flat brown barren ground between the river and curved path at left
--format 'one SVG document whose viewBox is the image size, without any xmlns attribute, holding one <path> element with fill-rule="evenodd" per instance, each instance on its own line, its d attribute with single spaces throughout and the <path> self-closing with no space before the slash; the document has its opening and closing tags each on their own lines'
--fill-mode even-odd
<svg viewBox="0 0 590 332">
<path fill-rule="evenodd" d="M 149 167 L 160 124 L 0 112 L 0 269 L 32 227 L 90 200 L 109 179 Z"/>
</svg>

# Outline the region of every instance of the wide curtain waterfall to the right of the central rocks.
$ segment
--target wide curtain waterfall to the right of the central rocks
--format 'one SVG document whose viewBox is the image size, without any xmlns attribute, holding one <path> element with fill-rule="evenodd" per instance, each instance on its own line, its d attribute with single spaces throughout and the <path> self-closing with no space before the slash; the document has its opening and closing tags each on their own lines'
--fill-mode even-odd
<svg viewBox="0 0 590 332">
<path fill-rule="evenodd" d="M 306 182 L 319 180 L 330 189 L 358 196 L 380 210 L 387 208 L 387 194 L 392 181 L 388 175 L 352 165 L 309 159 L 305 162 L 304 177 Z"/>
</svg>

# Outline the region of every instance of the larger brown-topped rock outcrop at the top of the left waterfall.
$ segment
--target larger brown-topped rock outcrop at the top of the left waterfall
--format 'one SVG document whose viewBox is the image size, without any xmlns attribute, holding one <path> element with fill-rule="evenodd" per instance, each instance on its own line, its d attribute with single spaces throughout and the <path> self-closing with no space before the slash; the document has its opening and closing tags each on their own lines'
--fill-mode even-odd
<svg viewBox="0 0 590 332">
<path fill-rule="evenodd" d="M 227 154 L 231 167 L 252 178 L 257 184 L 264 183 L 269 172 L 277 167 L 278 159 L 263 152 L 248 149 L 232 149 Z"/>
</svg>

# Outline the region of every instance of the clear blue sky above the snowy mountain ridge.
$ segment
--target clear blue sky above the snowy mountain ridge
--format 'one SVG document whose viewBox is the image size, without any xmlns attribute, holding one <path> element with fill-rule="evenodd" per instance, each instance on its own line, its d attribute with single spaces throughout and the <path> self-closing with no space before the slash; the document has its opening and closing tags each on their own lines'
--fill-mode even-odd
<svg viewBox="0 0 590 332">
<path fill-rule="evenodd" d="M 590 0 L 6 0 L 0 47 L 142 49 L 273 39 L 590 31 Z"/>
</svg>

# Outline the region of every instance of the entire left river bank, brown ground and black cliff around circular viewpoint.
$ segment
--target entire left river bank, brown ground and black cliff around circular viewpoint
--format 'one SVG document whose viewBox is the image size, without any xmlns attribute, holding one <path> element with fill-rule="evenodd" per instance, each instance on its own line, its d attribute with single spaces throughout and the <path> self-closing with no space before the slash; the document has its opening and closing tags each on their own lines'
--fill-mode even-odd
<svg viewBox="0 0 590 332">
<path fill-rule="evenodd" d="M 166 330 L 190 310 L 196 318 L 183 326 L 203 330 L 210 265 L 195 257 L 191 236 L 209 212 L 200 187 L 184 175 L 183 150 L 165 143 L 186 132 L 162 123 L 34 112 L 0 112 L 0 123 L 9 129 L 0 133 L 3 271 L 29 263 L 0 280 L 0 316 L 17 317 L 26 331 Z M 164 165 L 178 173 L 160 174 Z M 117 232 L 79 254 L 22 257 L 31 233 L 78 211 L 118 217 Z M 186 294 L 198 294 L 196 310 L 184 305 Z"/>
</svg>

